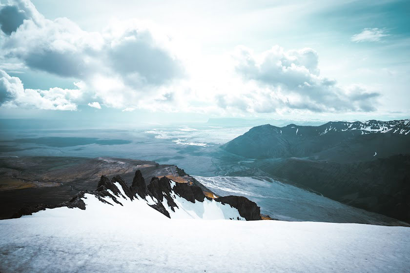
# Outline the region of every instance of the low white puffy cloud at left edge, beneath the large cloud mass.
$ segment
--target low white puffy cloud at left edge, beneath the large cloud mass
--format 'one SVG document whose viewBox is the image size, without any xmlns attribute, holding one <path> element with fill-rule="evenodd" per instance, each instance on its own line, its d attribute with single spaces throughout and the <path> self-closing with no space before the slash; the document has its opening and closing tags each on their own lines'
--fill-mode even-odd
<svg viewBox="0 0 410 273">
<path fill-rule="evenodd" d="M 45 110 L 77 110 L 72 100 L 79 99 L 78 89 L 49 90 L 24 89 L 20 78 L 11 77 L 0 70 L 0 105 L 6 107 L 36 108 Z"/>
</svg>

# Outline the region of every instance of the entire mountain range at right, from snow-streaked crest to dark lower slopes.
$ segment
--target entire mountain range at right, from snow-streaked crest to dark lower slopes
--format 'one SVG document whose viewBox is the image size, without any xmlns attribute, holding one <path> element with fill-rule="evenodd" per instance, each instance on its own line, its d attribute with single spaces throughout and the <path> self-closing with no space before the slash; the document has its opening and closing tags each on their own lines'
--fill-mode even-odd
<svg viewBox="0 0 410 273">
<path fill-rule="evenodd" d="M 410 221 L 410 119 L 253 127 L 222 145 L 334 200 Z"/>
</svg>

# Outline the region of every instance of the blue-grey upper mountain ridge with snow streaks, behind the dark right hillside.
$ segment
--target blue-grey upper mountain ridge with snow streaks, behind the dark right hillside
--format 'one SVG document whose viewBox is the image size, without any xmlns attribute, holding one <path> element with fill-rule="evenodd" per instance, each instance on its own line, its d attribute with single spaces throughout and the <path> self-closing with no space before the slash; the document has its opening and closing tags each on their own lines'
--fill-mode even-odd
<svg viewBox="0 0 410 273">
<path fill-rule="evenodd" d="M 289 124 L 285 127 L 276 127 L 266 124 L 253 127 L 244 135 L 227 142 L 222 148 L 227 152 L 247 158 L 306 157 L 334 148 L 338 144 L 349 146 L 342 143 L 349 139 L 349 144 L 356 141 L 366 143 L 367 147 L 372 147 L 371 156 L 381 158 L 400 152 L 410 153 L 409 132 L 409 119 L 366 122 L 337 121 L 321 126 Z M 370 134 L 375 136 L 365 136 Z M 367 142 L 368 139 L 371 139 L 372 143 Z M 379 149 L 381 151 L 377 156 L 376 151 Z M 318 158 L 322 157 L 318 155 Z M 326 159 L 326 156 L 323 158 Z M 352 158 L 355 159 L 355 157 Z"/>
</svg>

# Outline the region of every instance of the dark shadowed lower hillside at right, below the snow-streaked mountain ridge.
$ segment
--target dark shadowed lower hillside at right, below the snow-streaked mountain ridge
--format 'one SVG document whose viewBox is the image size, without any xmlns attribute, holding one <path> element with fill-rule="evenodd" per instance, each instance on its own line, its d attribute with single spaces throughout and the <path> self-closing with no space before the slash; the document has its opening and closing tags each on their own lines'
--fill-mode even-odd
<svg viewBox="0 0 410 273">
<path fill-rule="evenodd" d="M 410 222 L 410 155 L 351 163 L 292 157 L 255 166 L 333 200 Z"/>
</svg>

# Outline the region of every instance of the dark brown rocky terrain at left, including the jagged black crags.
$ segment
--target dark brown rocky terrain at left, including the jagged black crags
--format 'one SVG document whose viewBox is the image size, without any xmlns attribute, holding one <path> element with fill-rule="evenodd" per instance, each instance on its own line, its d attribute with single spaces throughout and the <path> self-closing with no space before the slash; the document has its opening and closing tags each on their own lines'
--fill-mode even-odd
<svg viewBox="0 0 410 273">
<path fill-rule="evenodd" d="M 58 207 L 85 209 L 85 195 L 94 195 L 101 202 L 111 205 L 122 205 L 119 201 L 121 198 L 149 199 L 151 202 L 147 203 L 152 208 L 170 217 L 168 211 L 175 212 L 175 209 L 178 209 L 175 201 L 178 195 L 191 203 L 210 201 L 221 206 L 228 204 L 236 208 L 239 215 L 246 220 L 261 219 L 260 209 L 254 202 L 239 196 L 217 197 L 175 165 L 108 157 L 53 157 L 54 162 L 50 164 L 50 159 L 1 159 L 2 181 L 12 179 L 19 185 L 18 188 L 3 188 L 0 191 L 1 202 L 4 202 L 1 206 L 3 218 L 20 217 Z M 113 178 L 109 179 L 107 176 Z M 131 185 L 128 186 L 122 177 L 132 181 Z M 96 181 L 99 182 L 94 190 Z M 53 187 L 50 187 L 50 184 Z M 73 195 L 75 196 L 72 197 Z M 71 200 L 67 201 L 70 198 Z M 107 198 L 110 201 L 107 201 Z M 239 219 L 239 216 L 237 218 Z"/>
</svg>

